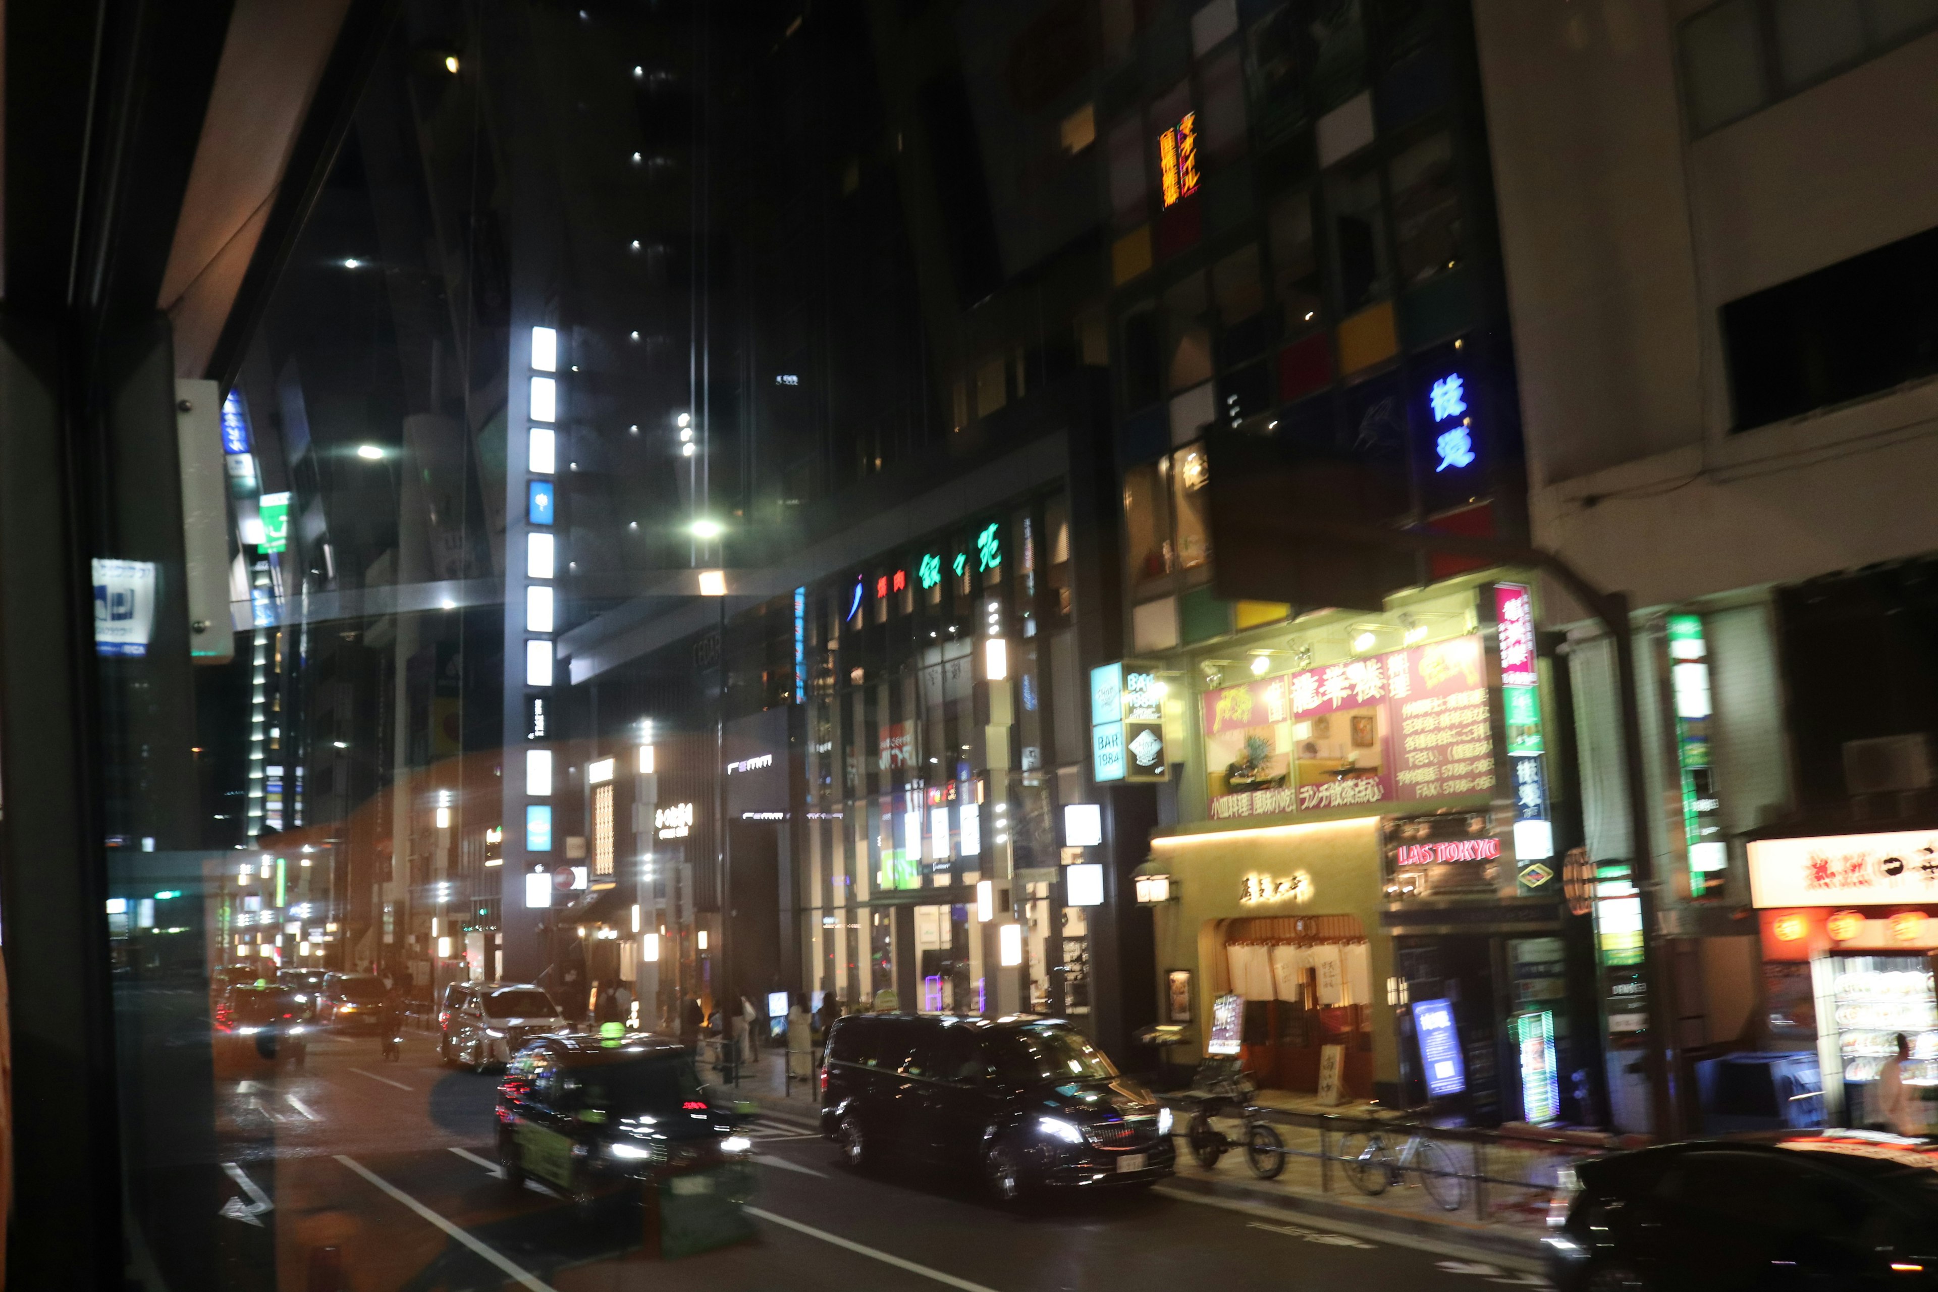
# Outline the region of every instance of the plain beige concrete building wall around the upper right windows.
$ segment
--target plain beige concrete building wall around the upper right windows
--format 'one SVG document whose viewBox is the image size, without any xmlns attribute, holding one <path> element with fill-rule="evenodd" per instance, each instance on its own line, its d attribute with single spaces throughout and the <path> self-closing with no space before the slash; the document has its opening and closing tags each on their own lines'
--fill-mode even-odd
<svg viewBox="0 0 1938 1292">
<path fill-rule="evenodd" d="M 1938 225 L 1938 35 L 1688 143 L 1694 8 L 1475 2 L 1535 538 L 1638 606 L 1938 548 L 1938 384 L 1731 434 L 1717 325 Z"/>
</svg>

